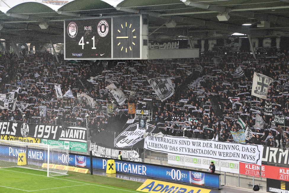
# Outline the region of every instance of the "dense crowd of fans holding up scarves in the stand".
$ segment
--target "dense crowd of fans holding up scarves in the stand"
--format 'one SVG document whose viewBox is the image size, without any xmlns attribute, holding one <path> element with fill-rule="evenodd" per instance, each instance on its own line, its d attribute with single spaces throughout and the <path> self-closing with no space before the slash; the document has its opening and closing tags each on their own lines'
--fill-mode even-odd
<svg viewBox="0 0 289 193">
<path fill-rule="evenodd" d="M 167 60 L 123 61 L 65 61 L 60 63 L 49 52 L 0 55 L 1 94 L 21 91 L 18 104 L 27 108 L 14 112 L 1 110 L 0 120 L 44 124 L 67 124 L 91 128 L 92 135 L 107 129 L 107 123 L 117 121 L 120 112 L 107 113 L 107 104 L 113 103 L 127 117 L 127 102 L 136 109 L 152 110 L 152 120 L 166 135 L 233 142 L 231 131 L 239 131 L 240 117 L 251 129 L 246 143 L 289 148 L 289 53 L 287 50 L 266 50 L 257 59 L 250 53 L 207 52 L 199 58 Z M 196 68 L 201 66 L 202 69 Z M 244 75 L 231 73 L 241 67 Z M 251 96 L 254 72 L 271 77 L 274 81 L 268 92 L 272 102 L 272 116 L 264 115 L 265 100 Z M 38 76 L 39 75 L 39 76 Z M 174 85 L 173 96 L 161 102 L 150 87 L 148 79 L 170 77 Z M 118 105 L 105 88 L 114 83 L 126 94 L 125 105 Z M 57 99 L 54 84 L 59 84 L 62 94 L 69 88 L 74 98 Z M 79 93 L 79 94 L 78 94 Z M 89 104 L 79 97 L 92 97 Z M 41 113 L 46 107 L 46 114 Z M 263 128 L 253 127 L 256 114 L 264 120 Z M 272 125 L 274 115 L 284 115 L 285 125 Z M 274 129 L 275 128 L 275 129 Z"/>
</svg>

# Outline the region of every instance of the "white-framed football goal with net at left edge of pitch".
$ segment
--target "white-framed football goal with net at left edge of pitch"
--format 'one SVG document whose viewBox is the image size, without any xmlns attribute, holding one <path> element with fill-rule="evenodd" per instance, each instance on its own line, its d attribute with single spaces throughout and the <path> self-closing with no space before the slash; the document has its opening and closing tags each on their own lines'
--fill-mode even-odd
<svg viewBox="0 0 289 193">
<path fill-rule="evenodd" d="M 23 167 L 47 171 L 47 176 L 66 175 L 68 150 L 61 145 L 45 145 L 0 140 L 0 167 Z"/>
</svg>

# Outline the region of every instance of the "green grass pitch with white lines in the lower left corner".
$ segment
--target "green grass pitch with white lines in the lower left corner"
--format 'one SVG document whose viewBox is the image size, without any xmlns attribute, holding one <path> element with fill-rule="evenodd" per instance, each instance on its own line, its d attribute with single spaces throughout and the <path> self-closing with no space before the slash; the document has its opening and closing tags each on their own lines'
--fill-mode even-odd
<svg viewBox="0 0 289 193">
<path fill-rule="evenodd" d="M 100 175 L 68 172 L 47 177 L 47 172 L 19 167 L 0 168 L 0 192 L 139 192 L 142 182 Z"/>
</svg>

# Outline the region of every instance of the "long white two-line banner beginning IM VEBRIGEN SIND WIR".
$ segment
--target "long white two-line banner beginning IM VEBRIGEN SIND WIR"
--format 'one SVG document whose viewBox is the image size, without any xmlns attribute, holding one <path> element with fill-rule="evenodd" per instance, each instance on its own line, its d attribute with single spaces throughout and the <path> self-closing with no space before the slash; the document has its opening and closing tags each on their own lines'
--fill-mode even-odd
<svg viewBox="0 0 289 193">
<path fill-rule="evenodd" d="M 155 137 L 153 135 L 145 137 L 144 148 L 163 153 L 240 161 L 258 165 L 261 165 L 263 153 L 262 145 L 243 145 L 175 136 Z"/>
</svg>

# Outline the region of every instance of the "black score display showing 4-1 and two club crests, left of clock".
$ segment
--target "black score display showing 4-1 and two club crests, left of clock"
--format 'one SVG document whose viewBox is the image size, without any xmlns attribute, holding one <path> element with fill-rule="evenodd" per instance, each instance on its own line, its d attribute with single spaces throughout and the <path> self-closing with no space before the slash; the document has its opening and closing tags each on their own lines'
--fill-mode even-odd
<svg viewBox="0 0 289 193">
<path fill-rule="evenodd" d="M 111 58 L 111 18 L 65 20 L 65 59 Z"/>
</svg>

